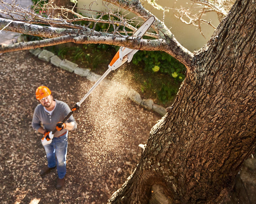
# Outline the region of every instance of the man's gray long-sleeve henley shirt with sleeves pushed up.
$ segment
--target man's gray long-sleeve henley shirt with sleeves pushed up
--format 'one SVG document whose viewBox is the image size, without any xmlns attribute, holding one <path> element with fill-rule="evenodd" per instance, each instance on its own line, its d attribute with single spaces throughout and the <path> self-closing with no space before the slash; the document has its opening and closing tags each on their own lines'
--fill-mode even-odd
<svg viewBox="0 0 256 204">
<path fill-rule="evenodd" d="M 63 101 L 59 101 L 56 100 L 56 106 L 55 109 L 52 112 L 52 115 L 50 115 L 49 113 L 47 113 L 44 110 L 44 106 L 42 106 L 42 104 L 39 104 L 36 106 L 34 114 L 33 114 L 33 119 L 32 119 L 32 128 L 36 131 L 38 131 L 38 129 L 41 127 L 41 123 L 44 126 L 44 129 L 47 131 L 53 131 L 56 128 L 56 124 L 60 121 L 62 121 L 66 115 L 68 115 L 68 113 L 70 113 L 70 108 L 68 106 L 68 104 L 66 104 Z M 71 115 L 67 122 L 75 122 L 75 126 L 73 128 L 76 129 L 76 121 L 73 117 L 73 115 Z M 58 137 L 60 135 L 62 135 L 63 133 L 65 133 L 67 130 L 63 129 L 61 131 L 57 131 L 54 134 L 54 137 Z"/>
</svg>

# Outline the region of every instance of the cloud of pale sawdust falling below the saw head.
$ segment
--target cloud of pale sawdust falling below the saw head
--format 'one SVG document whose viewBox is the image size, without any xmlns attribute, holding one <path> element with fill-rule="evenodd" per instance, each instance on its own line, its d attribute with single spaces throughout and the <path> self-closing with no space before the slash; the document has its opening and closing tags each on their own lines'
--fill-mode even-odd
<svg viewBox="0 0 256 204">
<path fill-rule="evenodd" d="M 122 67 L 115 71 L 108 84 L 103 81 L 81 108 L 84 121 L 78 124 L 83 129 L 80 146 L 86 165 L 99 173 L 118 162 L 119 155 L 129 149 L 131 143 L 127 141 L 131 142 L 135 135 L 134 121 L 129 120 L 135 109 L 130 108 L 131 101 L 127 97 L 132 84 L 132 74 Z M 89 86 L 84 89 L 88 91 Z"/>
</svg>

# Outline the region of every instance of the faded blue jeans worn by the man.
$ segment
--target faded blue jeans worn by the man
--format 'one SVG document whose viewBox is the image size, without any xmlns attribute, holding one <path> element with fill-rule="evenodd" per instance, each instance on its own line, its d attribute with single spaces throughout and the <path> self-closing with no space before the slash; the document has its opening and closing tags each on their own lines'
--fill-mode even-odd
<svg viewBox="0 0 256 204">
<path fill-rule="evenodd" d="M 54 137 L 50 144 L 44 146 L 48 167 L 53 168 L 57 163 L 58 177 L 63 179 L 66 175 L 66 159 L 68 149 L 68 131 L 65 135 Z M 56 157 L 57 161 L 56 161 Z"/>
</svg>

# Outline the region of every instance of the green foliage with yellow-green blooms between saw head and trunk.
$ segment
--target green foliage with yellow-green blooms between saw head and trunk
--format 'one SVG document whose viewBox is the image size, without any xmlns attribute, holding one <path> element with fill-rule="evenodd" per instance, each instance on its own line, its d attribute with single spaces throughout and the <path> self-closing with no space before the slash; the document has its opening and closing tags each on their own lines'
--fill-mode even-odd
<svg viewBox="0 0 256 204">
<path fill-rule="evenodd" d="M 139 51 L 133 56 L 132 63 L 146 75 L 147 79 L 141 85 L 142 92 L 152 90 L 163 104 L 175 98 L 185 78 L 186 68 L 182 63 L 161 51 Z"/>
</svg>

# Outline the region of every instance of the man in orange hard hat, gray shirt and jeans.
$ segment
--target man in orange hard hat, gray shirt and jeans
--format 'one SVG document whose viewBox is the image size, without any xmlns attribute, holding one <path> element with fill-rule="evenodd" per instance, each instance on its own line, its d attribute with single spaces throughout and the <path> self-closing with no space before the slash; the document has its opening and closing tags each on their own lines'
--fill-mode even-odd
<svg viewBox="0 0 256 204">
<path fill-rule="evenodd" d="M 68 130 L 76 129 L 76 121 L 71 115 L 65 123 L 60 123 L 70 113 L 70 108 L 66 103 L 53 99 L 51 93 L 51 90 L 46 86 L 39 86 L 36 89 L 36 99 L 40 104 L 35 108 L 32 127 L 44 135 L 41 142 L 45 149 L 48 164 L 41 169 L 40 175 L 47 174 L 57 166 L 56 188 L 60 189 L 65 183 Z M 52 131 L 55 128 L 58 131 L 53 135 Z"/>
</svg>

